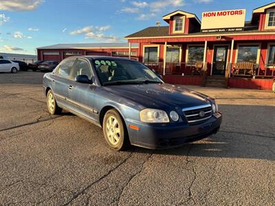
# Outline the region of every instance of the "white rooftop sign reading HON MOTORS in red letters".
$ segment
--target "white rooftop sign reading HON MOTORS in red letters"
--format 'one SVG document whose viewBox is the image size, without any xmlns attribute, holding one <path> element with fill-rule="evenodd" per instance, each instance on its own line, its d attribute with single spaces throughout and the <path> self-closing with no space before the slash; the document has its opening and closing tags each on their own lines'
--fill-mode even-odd
<svg viewBox="0 0 275 206">
<path fill-rule="evenodd" d="M 238 32 L 245 26 L 245 10 L 203 12 L 201 32 Z"/>
</svg>

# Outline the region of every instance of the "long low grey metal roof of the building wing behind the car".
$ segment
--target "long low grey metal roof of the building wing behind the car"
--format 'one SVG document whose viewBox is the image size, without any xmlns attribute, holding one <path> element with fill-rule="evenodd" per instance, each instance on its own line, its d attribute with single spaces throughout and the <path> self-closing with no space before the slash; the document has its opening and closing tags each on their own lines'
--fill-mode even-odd
<svg viewBox="0 0 275 206">
<path fill-rule="evenodd" d="M 75 44 L 57 44 L 37 49 L 76 49 L 76 48 L 120 48 L 129 47 L 129 43 L 75 43 Z M 133 43 L 132 47 L 138 47 L 138 44 Z"/>
</svg>

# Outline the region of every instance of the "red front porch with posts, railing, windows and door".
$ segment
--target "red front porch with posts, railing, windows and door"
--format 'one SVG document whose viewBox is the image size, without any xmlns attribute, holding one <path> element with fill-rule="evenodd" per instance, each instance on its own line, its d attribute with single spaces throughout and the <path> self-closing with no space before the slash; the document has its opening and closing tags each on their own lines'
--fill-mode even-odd
<svg viewBox="0 0 275 206">
<path fill-rule="evenodd" d="M 152 52 L 154 46 L 157 54 Z M 204 87 L 210 77 L 223 77 L 227 87 L 271 89 L 275 78 L 275 44 L 267 41 L 165 42 L 142 47 L 140 61 L 173 84 Z"/>
</svg>

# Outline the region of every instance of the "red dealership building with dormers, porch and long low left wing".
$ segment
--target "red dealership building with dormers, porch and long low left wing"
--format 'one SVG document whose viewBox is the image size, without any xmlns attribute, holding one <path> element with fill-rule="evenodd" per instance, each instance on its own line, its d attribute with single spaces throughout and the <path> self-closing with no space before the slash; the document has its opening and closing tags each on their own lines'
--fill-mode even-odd
<svg viewBox="0 0 275 206">
<path fill-rule="evenodd" d="M 118 56 L 136 58 L 173 84 L 272 88 L 275 3 L 253 10 L 249 22 L 245 22 L 245 10 L 203 12 L 201 21 L 195 14 L 177 10 L 163 20 L 167 26 L 148 27 L 126 36 L 129 45 L 124 47 L 54 45 L 39 48 L 39 59 L 124 52 Z M 58 59 L 51 52 L 56 52 Z"/>
</svg>

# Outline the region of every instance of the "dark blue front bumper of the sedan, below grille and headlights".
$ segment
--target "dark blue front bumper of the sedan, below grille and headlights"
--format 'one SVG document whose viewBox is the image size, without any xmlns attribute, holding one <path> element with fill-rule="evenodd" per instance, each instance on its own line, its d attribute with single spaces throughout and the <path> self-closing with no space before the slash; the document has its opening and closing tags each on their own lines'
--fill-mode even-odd
<svg viewBox="0 0 275 206">
<path fill-rule="evenodd" d="M 221 126 L 222 115 L 217 113 L 200 124 L 143 124 L 142 122 L 126 122 L 132 145 L 143 148 L 173 148 L 191 141 L 197 141 L 217 133 Z M 129 128 L 135 125 L 139 130 Z"/>
</svg>

